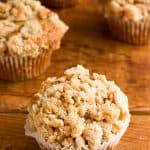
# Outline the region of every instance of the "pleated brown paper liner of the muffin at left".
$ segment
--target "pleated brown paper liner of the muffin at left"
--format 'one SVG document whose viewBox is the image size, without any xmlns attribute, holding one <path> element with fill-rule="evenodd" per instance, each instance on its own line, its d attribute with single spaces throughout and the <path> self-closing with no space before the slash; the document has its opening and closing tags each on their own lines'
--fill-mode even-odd
<svg viewBox="0 0 150 150">
<path fill-rule="evenodd" d="M 21 81 L 38 77 L 50 65 L 52 51 L 44 51 L 35 58 L 0 56 L 0 79 Z"/>
</svg>

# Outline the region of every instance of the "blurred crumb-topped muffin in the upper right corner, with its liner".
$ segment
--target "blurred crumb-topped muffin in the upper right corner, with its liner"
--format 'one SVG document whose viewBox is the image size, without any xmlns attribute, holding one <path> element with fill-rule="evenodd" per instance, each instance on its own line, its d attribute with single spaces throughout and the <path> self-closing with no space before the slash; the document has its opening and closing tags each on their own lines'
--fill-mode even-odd
<svg viewBox="0 0 150 150">
<path fill-rule="evenodd" d="M 131 44 L 149 44 L 149 0 L 100 0 L 100 2 L 113 37 Z"/>
</svg>

